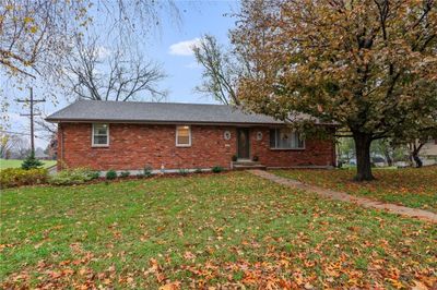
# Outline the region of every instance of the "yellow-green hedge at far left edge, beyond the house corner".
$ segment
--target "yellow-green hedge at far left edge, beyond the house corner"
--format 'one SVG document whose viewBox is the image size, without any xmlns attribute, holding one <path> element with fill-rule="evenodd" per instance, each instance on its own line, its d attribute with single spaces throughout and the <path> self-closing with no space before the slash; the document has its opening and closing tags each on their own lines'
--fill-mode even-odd
<svg viewBox="0 0 437 290">
<path fill-rule="evenodd" d="M 44 168 L 7 168 L 0 170 L 0 189 L 33 185 L 47 182 L 48 172 Z"/>
</svg>

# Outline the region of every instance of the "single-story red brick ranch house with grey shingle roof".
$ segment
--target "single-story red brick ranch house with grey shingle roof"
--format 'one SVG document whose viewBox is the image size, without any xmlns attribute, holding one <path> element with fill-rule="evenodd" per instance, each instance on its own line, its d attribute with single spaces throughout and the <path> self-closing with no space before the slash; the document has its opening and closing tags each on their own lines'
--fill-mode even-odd
<svg viewBox="0 0 437 290">
<path fill-rule="evenodd" d="M 333 141 L 303 140 L 282 121 L 224 105 L 78 100 L 46 120 L 58 123 L 58 169 L 135 173 L 145 166 L 177 172 L 335 164 Z"/>
</svg>

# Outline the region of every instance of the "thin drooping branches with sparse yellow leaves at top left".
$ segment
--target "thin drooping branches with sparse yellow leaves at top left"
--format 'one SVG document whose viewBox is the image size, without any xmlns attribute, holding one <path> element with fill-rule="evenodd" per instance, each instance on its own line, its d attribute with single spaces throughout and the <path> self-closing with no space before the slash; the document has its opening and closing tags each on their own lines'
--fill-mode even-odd
<svg viewBox="0 0 437 290">
<path fill-rule="evenodd" d="M 93 19 L 94 12 L 105 21 L 105 34 L 113 35 L 120 45 L 147 38 L 151 31 L 160 27 L 162 12 L 167 20 L 180 23 L 174 0 L 3 0 L 0 69 L 17 77 L 58 76 L 72 36 L 99 21 Z"/>
</svg>

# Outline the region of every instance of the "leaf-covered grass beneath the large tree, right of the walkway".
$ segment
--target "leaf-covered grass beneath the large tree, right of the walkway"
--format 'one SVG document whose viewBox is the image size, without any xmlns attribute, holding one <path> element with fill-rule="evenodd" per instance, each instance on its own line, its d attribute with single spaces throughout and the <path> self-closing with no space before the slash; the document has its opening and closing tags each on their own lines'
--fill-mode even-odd
<svg viewBox="0 0 437 290">
<path fill-rule="evenodd" d="M 377 180 L 355 182 L 355 169 L 274 171 L 326 189 L 437 213 L 437 167 L 374 169 L 373 172 Z"/>
</svg>

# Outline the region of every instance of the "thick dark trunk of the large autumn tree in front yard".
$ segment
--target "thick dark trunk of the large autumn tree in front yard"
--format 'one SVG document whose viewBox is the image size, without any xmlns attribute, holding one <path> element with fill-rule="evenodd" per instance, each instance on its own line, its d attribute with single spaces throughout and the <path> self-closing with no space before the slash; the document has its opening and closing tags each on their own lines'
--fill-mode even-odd
<svg viewBox="0 0 437 290">
<path fill-rule="evenodd" d="M 374 180 L 370 164 L 370 143 L 371 137 L 368 134 L 354 132 L 355 150 L 356 150 L 356 181 Z"/>
</svg>

